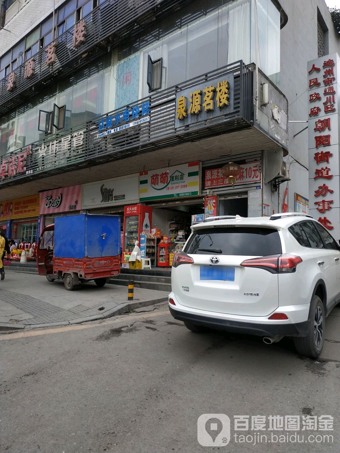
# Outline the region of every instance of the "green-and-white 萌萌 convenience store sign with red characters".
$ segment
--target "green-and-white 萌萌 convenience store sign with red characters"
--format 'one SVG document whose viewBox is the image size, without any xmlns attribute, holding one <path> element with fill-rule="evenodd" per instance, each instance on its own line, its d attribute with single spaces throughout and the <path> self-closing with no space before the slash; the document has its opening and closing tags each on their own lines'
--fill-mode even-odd
<svg viewBox="0 0 340 453">
<path fill-rule="evenodd" d="M 199 195 L 199 162 L 141 172 L 139 175 L 141 202 L 197 195 Z"/>
</svg>

